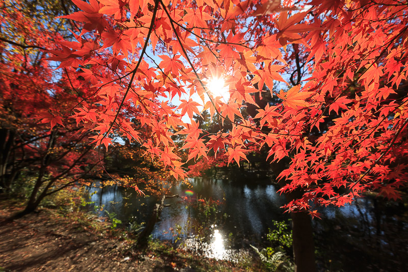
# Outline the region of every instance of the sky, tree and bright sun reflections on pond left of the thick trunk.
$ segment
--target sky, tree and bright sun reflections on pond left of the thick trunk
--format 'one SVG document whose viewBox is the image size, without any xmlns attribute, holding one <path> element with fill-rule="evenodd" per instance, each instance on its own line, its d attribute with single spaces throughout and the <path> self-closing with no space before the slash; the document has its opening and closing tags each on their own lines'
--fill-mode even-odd
<svg viewBox="0 0 408 272">
<path fill-rule="evenodd" d="M 157 222 L 152 237 L 172 240 L 179 237 L 185 240 L 190 249 L 200 248 L 202 254 L 215 259 L 238 260 L 244 252 L 233 250 L 251 244 L 257 244 L 272 228 L 272 220 L 286 218 L 279 207 L 285 204 L 284 197 L 276 194 L 273 185 L 237 185 L 225 180 L 191 179 L 191 186 L 185 184 L 171 188 L 172 194 L 188 197 L 190 202 L 197 199 L 212 199 L 225 205 L 219 206 L 225 220 L 216 228 L 217 222 L 202 222 L 202 218 L 180 199 L 167 199 L 169 207 L 163 209 L 161 220 Z M 146 221 L 156 203 L 154 197 L 140 197 L 134 190 L 117 186 L 98 188 L 90 187 L 87 209 L 96 209 L 101 216 L 115 213 L 115 217 L 124 224 L 136 218 L 140 224 Z M 98 208 L 96 208 L 98 207 Z M 100 209 L 103 207 L 103 209 Z M 106 213 L 108 212 L 108 214 Z M 287 216 L 287 215 L 286 215 Z M 197 238 L 197 228 L 202 226 L 211 230 L 205 232 L 206 239 Z M 202 234 L 202 233 L 201 233 Z M 235 242 L 227 237 L 234 237 Z"/>
</svg>

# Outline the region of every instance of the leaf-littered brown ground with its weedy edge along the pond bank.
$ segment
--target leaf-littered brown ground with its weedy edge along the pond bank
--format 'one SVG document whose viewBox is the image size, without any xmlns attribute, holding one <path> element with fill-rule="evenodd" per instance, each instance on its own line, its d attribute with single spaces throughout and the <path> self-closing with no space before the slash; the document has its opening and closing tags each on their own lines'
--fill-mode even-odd
<svg viewBox="0 0 408 272">
<path fill-rule="evenodd" d="M 4 202 L 0 205 L 0 271 L 186 272 L 248 269 L 177 251 L 132 250 L 132 241 L 113 237 L 103 222 L 87 214 L 64 215 L 58 210 L 42 208 L 19 219 L 7 220 L 18 210 Z M 84 216 L 88 216 L 88 221 L 84 220 Z"/>
</svg>

